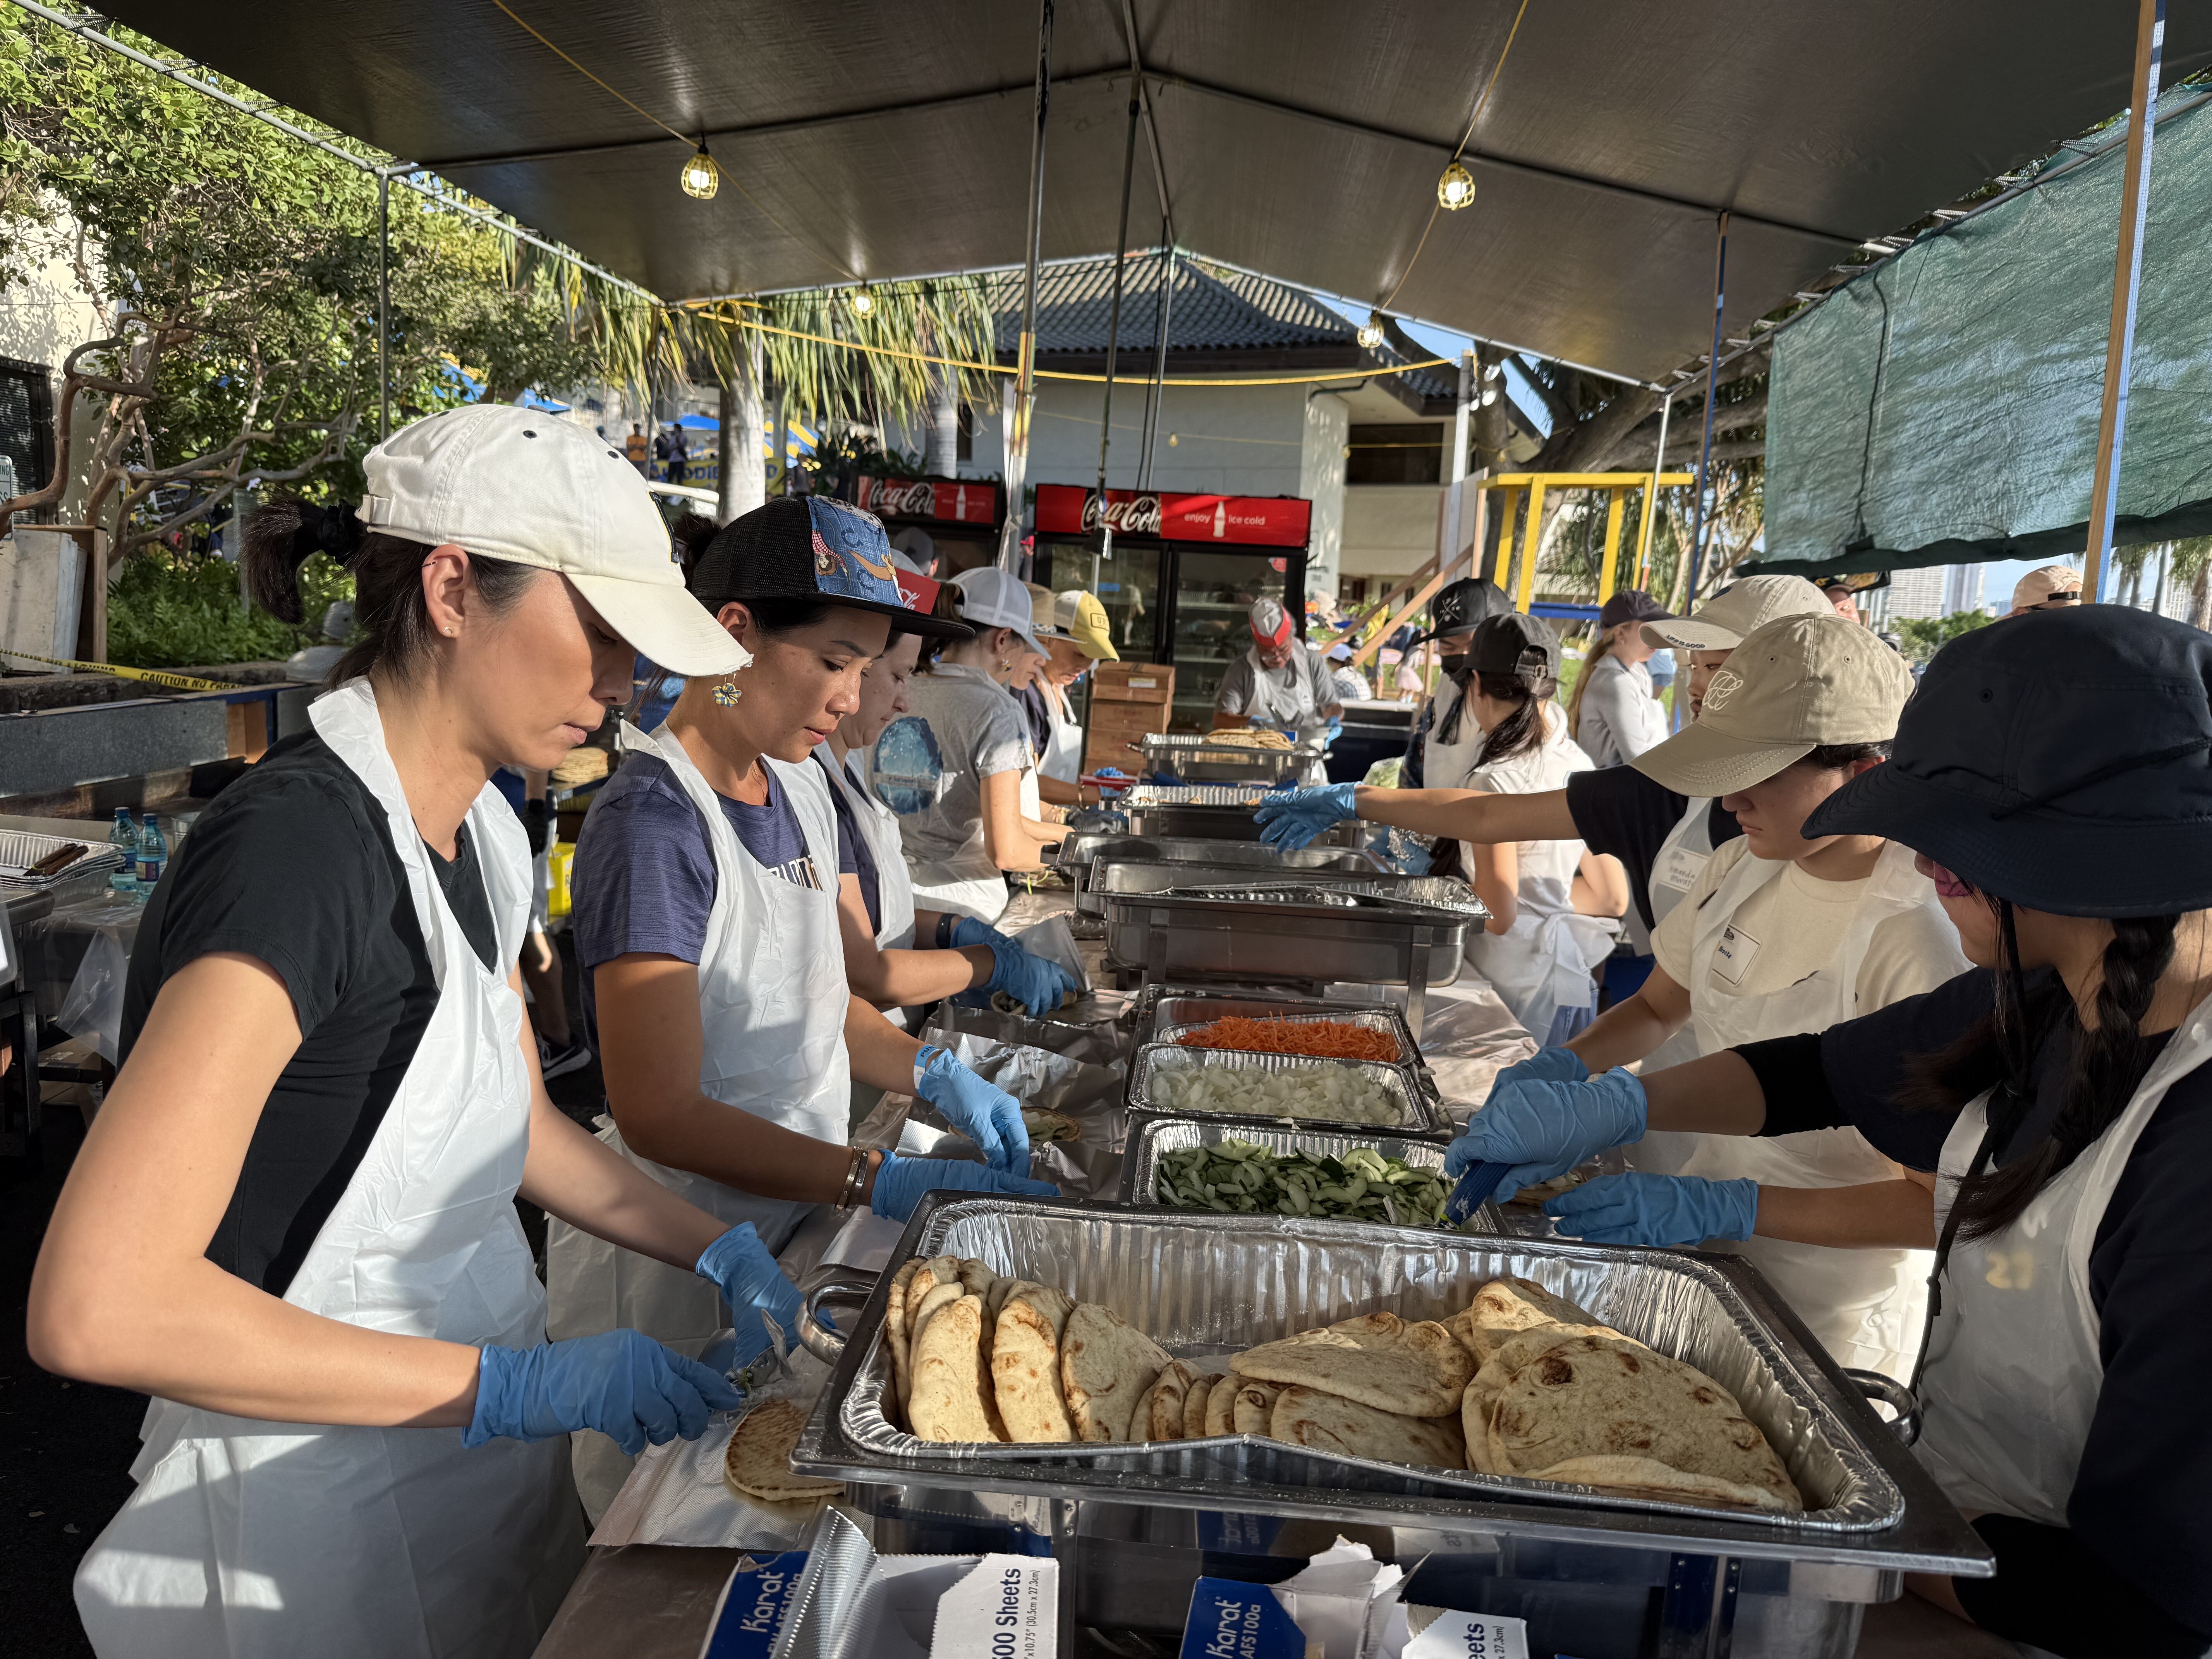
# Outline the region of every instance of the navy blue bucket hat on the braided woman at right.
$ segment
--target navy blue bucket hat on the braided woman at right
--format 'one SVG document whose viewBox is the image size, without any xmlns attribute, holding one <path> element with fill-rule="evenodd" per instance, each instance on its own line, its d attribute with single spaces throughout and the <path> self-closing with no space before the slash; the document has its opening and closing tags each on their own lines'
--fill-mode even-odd
<svg viewBox="0 0 2212 1659">
<path fill-rule="evenodd" d="M 1885 836 L 2057 916 L 2212 909 L 2212 635 L 2115 604 L 1944 646 L 1807 836 Z"/>
</svg>

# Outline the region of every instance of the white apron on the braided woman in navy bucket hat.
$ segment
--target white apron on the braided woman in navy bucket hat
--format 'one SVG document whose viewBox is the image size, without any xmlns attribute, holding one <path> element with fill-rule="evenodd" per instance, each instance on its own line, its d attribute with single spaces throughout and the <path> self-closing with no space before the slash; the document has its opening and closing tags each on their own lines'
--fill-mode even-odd
<svg viewBox="0 0 2212 1659">
<path fill-rule="evenodd" d="M 2110 1128 L 2028 1199 L 2004 1232 L 1951 1245 L 1942 1314 L 1920 1378 L 1920 1462 L 1960 1509 L 2066 1524 L 2104 1387 L 2088 1256 L 2128 1155 L 2166 1091 L 2212 1060 L 2199 1004 Z M 1989 1128 L 1989 1095 L 1960 1113 L 1936 1179 L 1936 1230 Z"/>
</svg>

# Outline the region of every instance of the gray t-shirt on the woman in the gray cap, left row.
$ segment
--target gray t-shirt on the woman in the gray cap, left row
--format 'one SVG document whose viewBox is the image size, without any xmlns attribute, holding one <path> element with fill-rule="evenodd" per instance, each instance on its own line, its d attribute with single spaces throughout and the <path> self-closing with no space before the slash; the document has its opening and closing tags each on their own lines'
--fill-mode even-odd
<svg viewBox="0 0 2212 1659">
<path fill-rule="evenodd" d="M 982 781 L 1026 765 L 1029 721 L 989 675 L 938 664 L 907 681 L 907 712 L 869 750 L 869 787 L 898 814 L 918 883 L 998 874 L 984 852 Z"/>
</svg>

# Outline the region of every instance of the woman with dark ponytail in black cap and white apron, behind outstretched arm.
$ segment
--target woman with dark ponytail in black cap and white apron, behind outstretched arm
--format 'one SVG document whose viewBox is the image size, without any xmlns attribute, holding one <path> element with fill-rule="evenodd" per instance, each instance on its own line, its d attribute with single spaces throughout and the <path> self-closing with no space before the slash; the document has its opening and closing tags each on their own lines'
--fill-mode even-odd
<svg viewBox="0 0 2212 1659">
<path fill-rule="evenodd" d="M 1559 639 L 1544 622 L 1515 611 L 1493 615 L 1475 626 L 1464 661 L 1464 692 L 1447 714 L 1475 734 L 1462 787 L 1533 794 L 1590 770 L 1553 701 Z M 1566 1042 L 1590 1024 L 1590 969 L 1613 953 L 1628 876 L 1579 841 L 1458 847 L 1460 867 L 1491 911 L 1484 931 L 1467 940 L 1469 967 L 1537 1040 Z"/>
</svg>

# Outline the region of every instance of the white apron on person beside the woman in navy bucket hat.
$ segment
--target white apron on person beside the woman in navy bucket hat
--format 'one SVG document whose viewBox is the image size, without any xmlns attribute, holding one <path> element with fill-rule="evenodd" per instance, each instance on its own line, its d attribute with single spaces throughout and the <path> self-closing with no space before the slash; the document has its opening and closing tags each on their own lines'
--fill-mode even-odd
<svg viewBox="0 0 2212 1659">
<path fill-rule="evenodd" d="M 1889 843 L 1851 922 L 1818 973 L 1765 995 L 1712 989 L 1712 951 L 1745 900 L 1776 880 L 1787 863 L 1745 856 L 1728 872 L 1697 918 L 1690 947 L 1690 1018 L 1699 1053 L 1714 1055 L 1745 1042 L 1827 1031 L 1874 1009 L 1858 1006 L 1858 969 L 1876 925 L 1916 905 L 1936 905 L 1936 887 L 1913 869 L 1911 847 Z M 1960 958 L 1964 971 L 1964 956 Z M 1816 1128 L 1801 1135 L 1701 1135 L 1683 1175 L 1708 1181 L 1750 1177 L 1770 1186 L 1860 1186 L 1896 1181 L 1898 1168 L 1856 1128 Z M 1913 1347 L 1927 1316 L 1927 1250 L 1834 1250 L 1785 1239 L 1745 1239 L 1717 1245 L 1736 1250 L 1767 1276 L 1798 1318 L 1812 1327 L 1836 1365 L 1860 1365 L 1900 1383 L 1911 1376 Z"/>
</svg>

